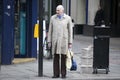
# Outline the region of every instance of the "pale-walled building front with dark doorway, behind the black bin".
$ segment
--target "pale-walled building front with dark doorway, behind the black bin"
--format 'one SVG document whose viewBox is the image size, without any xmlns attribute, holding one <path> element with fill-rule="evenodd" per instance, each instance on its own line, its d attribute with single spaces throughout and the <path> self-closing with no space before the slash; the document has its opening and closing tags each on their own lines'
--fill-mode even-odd
<svg viewBox="0 0 120 80">
<path fill-rule="evenodd" d="M 111 27 L 111 36 L 120 37 L 120 1 L 119 0 L 71 0 L 71 17 L 75 24 L 83 26 L 83 34 L 92 34 L 94 17 L 99 6 L 105 11 L 105 24 Z M 76 26 L 78 27 L 78 26 Z M 77 29 L 80 31 L 80 29 Z M 88 28 L 88 29 L 87 29 Z"/>
</svg>

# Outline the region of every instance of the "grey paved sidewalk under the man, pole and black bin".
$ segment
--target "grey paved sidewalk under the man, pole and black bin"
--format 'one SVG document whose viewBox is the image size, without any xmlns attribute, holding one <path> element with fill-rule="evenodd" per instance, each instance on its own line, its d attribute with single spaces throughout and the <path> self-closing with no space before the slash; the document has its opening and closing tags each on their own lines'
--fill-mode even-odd
<svg viewBox="0 0 120 80">
<path fill-rule="evenodd" d="M 98 74 L 81 73 L 80 55 L 81 49 L 93 44 L 93 38 L 89 36 L 76 35 L 73 42 L 74 58 L 77 61 L 77 71 L 67 72 L 66 80 L 120 80 L 120 38 L 110 39 L 110 58 L 108 74 L 102 71 Z M 2 65 L 0 71 L 0 80 L 62 80 L 61 78 L 53 79 L 52 60 L 43 60 L 43 77 L 38 77 L 38 60 Z"/>
</svg>

